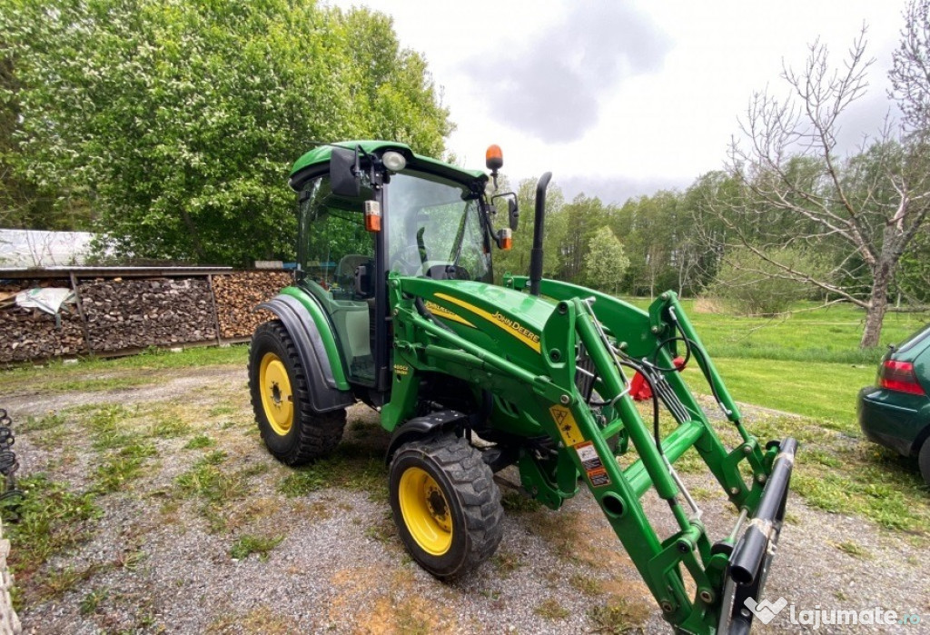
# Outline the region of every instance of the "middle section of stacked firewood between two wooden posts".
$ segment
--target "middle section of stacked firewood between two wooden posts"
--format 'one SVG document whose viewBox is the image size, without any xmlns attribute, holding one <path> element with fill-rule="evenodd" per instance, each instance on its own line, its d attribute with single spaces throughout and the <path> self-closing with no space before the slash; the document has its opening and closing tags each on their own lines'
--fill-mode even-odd
<svg viewBox="0 0 930 635">
<path fill-rule="evenodd" d="M 121 351 L 216 339 L 203 278 L 85 281 L 78 295 L 93 351 Z"/>
</svg>

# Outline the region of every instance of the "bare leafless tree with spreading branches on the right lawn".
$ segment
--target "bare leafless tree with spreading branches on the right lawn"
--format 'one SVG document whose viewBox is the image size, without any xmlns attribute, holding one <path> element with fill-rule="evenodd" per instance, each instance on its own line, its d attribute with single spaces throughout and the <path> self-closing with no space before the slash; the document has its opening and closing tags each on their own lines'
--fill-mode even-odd
<svg viewBox="0 0 930 635">
<path fill-rule="evenodd" d="M 899 122 L 886 118 L 858 152 L 839 156 L 842 115 L 866 93 L 873 60 L 865 28 L 839 68 L 816 42 L 803 70 L 782 72 L 790 97 L 752 97 L 740 122 L 745 139 L 732 142 L 727 165 L 738 194 L 711 205 L 724 249 L 747 248 L 779 277 L 864 309 L 861 347 L 878 345 L 884 315 L 895 310 L 888 293 L 898 263 L 930 209 L 928 8 L 930 0 L 911 0 L 904 11 L 889 73 Z M 785 246 L 830 255 L 831 266 L 802 270 L 777 258 Z"/>
</svg>

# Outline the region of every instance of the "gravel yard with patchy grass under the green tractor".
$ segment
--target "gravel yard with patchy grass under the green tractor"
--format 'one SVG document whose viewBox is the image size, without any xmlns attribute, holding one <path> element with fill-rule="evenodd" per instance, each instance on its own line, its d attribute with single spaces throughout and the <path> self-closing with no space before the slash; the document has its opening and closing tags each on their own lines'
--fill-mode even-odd
<svg viewBox="0 0 930 635">
<path fill-rule="evenodd" d="M 23 429 L 20 477 L 45 472 L 74 492 L 98 483 L 100 515 L 83 522 L 85 538 L 18 579 L 27 633 L 671 632 L 591 496 L 580 491 L 559 511 L 524 505 L 512 469 L 499 474 L 510 504 L 491 561 L 451 584 L 419 569 L 394 533 L 380 461 L 388 437 L 365 406 L 350 410 L 326 463 L 333 486 L 314 483 L 317 472 L 295 476 L 264 450 L 238 366 L 157 371 L 114 390 L 3 386 L 0 377 L 0 407 Z M 112 416 L 109 428 L 100 413 Z M 747 414 L 750 426 L 773 416 Z M 59 425 L 34 423 L 52 415 Z M 111 438 L 100 430 L 153 446 L 142 470 L 105 493 L 98 468 L 119 455 L 100 449 Z M 688 482 L 711 539 L 723 537 L 735 512 L 704 475 Z M 669 526 L 664 503 L 646 496 L 645 505 Z M 799 496 L 789 506 L 765 595 L 793 608 L 755 631 L 930 632 L 924 536 L 811 509 Z M 243 551 L 255 538 L 271 548 Z M 842 548 L 850 541 L 855 553 Z M 11 560 L 29 549 L 14 543 Z M 790 617 L 876 606 L 923 623 L 814 628 Z"/>
</svg>

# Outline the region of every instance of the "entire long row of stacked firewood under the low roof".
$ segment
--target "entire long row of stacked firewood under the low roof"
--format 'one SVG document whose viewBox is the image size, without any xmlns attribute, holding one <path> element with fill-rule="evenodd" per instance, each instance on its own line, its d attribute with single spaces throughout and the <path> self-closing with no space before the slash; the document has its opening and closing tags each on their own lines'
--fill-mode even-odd
<svg viewBox="0 0 930 635">
<path fill-rule="evenodd" d="M 58 315 L 16 306 L 16 294 L 70 279 L 0 283 L 0 364 L 216 341 L 218 325 L 223 339 L 250 337 L 274 318 L 255 307 L 292 283 L 286 271 L 78 280 L 80 308 L 67 302 Z"/>
</svg>

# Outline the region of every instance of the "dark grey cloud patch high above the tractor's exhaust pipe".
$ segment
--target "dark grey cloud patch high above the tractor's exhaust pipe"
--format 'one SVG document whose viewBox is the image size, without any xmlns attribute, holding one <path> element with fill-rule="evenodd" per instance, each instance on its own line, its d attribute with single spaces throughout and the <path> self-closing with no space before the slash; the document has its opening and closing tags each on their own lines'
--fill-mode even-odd
<svg viewBox="0 0 930 635">
<path fill-rule="evenodd" d="M 501 123 L 565 142 L 597 123 L 599 96 L 658 71 L 670 49 L 668 36 L 628 4 L 582 2 L 522 49 L 501 47 L 462 68 Z"/>
</svg>

